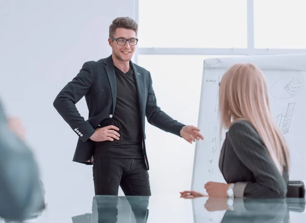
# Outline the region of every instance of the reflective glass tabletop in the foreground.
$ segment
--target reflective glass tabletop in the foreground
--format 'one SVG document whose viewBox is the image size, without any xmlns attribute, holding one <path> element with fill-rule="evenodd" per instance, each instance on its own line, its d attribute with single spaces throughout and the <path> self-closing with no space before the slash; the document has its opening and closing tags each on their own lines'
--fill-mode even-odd
<svg viewBox="0 0 306 223">
<path fill-rule="evenodd" d="M 23 222 L 156 223 L 156 222 L 304 222 L 304 199 L 221 199 L 95 196 L 87 201 L 47 204 Z M 0 220 L 0 222 L 2 222 Z M 5 221 L 4 221 L 5 222 Z M 14 222 L 14 221 L 9 221 Z"/>
</svg>

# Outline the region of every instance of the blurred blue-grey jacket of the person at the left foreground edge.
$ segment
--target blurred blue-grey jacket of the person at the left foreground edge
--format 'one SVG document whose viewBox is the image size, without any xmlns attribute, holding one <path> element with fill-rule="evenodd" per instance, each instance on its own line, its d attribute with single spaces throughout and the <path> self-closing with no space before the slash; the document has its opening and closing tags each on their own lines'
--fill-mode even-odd
<svg viewBox="0 0 306 223">
<path fill-rule="evenodd" d="M 9 129 L 0 103 L 0 216 L 25 219 L 43 209 L 37 163 L 28 146 Z"/>
</svg>

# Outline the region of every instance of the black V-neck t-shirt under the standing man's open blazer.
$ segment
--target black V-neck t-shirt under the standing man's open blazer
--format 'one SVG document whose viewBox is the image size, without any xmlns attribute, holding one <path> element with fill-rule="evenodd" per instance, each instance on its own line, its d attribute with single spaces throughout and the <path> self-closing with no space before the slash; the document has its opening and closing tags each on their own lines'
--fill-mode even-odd
<svg viewBox="0 0 306 223">
<path fill-rule="evenodd" d="M 120 139 L 96 142 L 94 156 L 143 158 L 139 100 L 133 69 L 123 73 L 115 67 L 117 99 L 115 112 L 107 125 L 119 128 Z M 101 102 L 103 103 L 103 102 Z"/>
</svg>

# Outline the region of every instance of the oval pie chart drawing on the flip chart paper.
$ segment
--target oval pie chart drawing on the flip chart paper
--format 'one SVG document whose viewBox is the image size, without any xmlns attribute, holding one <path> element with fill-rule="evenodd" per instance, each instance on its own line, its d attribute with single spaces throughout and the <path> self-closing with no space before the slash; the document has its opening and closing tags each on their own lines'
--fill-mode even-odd
<svg viewBox="0 0 306 223">
<path fill-rule="evenodd" d="M 301 81 L 296 77 L 284 77 L 273 83 L 271 95 L 274 98 L 286 99 L 294 97 L 301 89 Z"/>
</svg>

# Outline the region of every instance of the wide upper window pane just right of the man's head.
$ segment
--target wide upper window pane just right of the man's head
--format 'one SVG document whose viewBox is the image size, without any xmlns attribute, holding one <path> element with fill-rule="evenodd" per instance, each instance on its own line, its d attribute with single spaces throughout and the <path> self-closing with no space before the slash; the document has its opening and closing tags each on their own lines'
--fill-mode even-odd
<svg viewBox="0 0 306 223">
<path fill-rule="evenodd" d="M 139 47 L 246 48 L 246 0 L 139 1 Z"/>
</svg>

